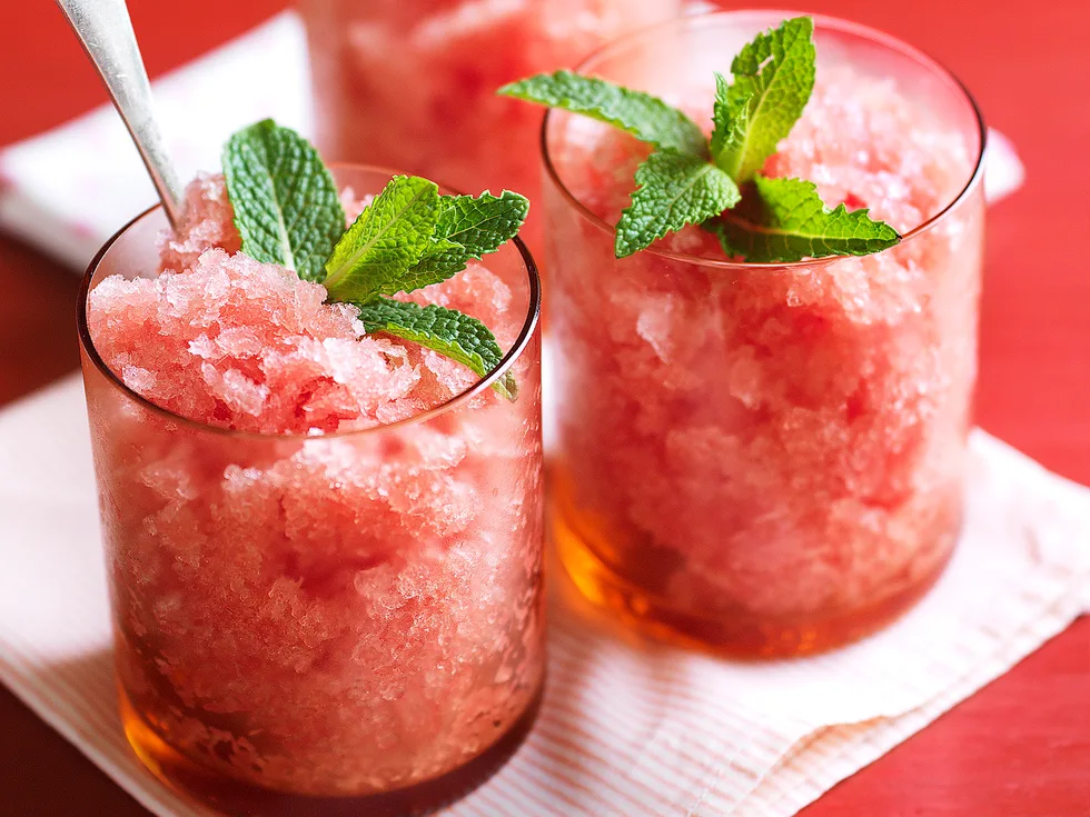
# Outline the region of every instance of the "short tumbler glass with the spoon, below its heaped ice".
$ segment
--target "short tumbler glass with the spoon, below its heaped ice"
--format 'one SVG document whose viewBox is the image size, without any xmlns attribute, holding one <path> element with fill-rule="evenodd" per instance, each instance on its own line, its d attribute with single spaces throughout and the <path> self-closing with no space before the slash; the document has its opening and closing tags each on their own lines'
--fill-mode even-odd
<svg viewBox="0 0 1090 817">
<path fill-rule="evenodd" d="M 335 169 L 356 196 L 388 171 Z M 79 337 L 125 730 L 157 776 L 229 814 L 405 815 L 468 791 L 529 730 L 544 680 L 539 286 L 499 368 L 429 411 L 317 437 L 175 416 L 109 370 L 108 276 L 158 269 L 161 209 L 91 263 Z M 515 375 L 514 402 L 489 383 Z"/>
</svg>

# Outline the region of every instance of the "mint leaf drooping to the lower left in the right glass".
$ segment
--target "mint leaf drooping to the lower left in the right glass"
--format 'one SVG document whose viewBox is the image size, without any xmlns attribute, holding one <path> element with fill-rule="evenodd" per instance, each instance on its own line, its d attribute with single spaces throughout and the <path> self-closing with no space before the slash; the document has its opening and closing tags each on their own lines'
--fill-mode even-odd
<svg viewBox="0 0 1090 817">
<path fill-rule="evenodd" d="M 638 188 L 621 213 L 614 251 L 625 258 L 685 225 L 698 225 L 739 201 L 724 171 L 695 156 L 652 153 L 636 169 Z"/>
</svg>

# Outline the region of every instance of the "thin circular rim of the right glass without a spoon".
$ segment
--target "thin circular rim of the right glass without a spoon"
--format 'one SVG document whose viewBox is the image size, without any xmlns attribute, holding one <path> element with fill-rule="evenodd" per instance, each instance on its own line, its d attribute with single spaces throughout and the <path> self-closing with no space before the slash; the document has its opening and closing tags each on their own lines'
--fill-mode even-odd
<svg viewBox="0 0 1090 817">
<path fill-rule="evenodd" d="M 839 31 L 842 33 L 855 34 L 862 39 L 870 40 L 880 46 L 889 48 L 893 51 L 898 51 L 905 57 L 913 59 L 919 64 L 930 69 L 933 73 L 947 80 L 951 83 L 958 91 L 961 92 L 964 100 L 969 102 L 969 108 L 972 111 L 973 119 L 977 122 L 979 146 L 977 149 L 977 157 L 974 160 L 972 172 L 969 175 L 969 179 L 965 181 L 961 190 L 953 196 L 950 201 L 939 209 L 933 216 L 923 220 L 915 227 L 913 227 L 908 232 L 901 236 L 901 241 L 899 245 L 905 243 L 909 239 L 915 238 L 916 236 L 928 232 L 933 229 L 940 221 L 942 221 L 948 213 L 950 213 L 962 200 L 968 198 L 968 196 L 977 188 L 978 185 L 982 183 L 983 171 L 984 171 L 984 148 L 988 145 L 988 126 L 984 123 L 984 114 L 980 110 L 980 106 L 977 103 L 975 97 L 962 82 L 958 76 L 947 68 L 942 62 L 931 57 L 925 51 L 911 46 L 904 40 L 901 40 L 893 34 L 889 34 L 879 29 L 872 28 L 871 26 L 865 26 L 863 23 L 853 22 L 851 20 L 845 20 L 840 17 L 833 17 L 831 14 L 813 14 L 809 12 L 799 11 L 783 11 L 776 9 L 740 9 L 740 10 L 723 10 L 713 11 L 703 14 L 688 14 L 685 17 L 675 18 L 666 22 L 654 23 L 651 26 L 645 26 L 637 31 L 630 32 L 614 40 L 611 40 L 606 44 L 593 51 L 586 58 L 584 58 L 576 67 L 576 73 L 584 73 L 588 69 L 593 69 L 594 64 L 601 61 L 603 58 L 608 57 L 613 51 L 623 49 L 627 46 L 635 44 L 641 40 L 647 40 L 653 37 L 661 36 L 664 27 L 675 28 L 677 30 L 687 28 L 690 26 L 696 26 L 700 23 L 706 23 L 708 20 L 724 19 L 724 18 L 745 18 L 745 17 L 760 17 L 760 18 L 773 18 L 786 20 L 792 17 L 810 17 L 813 18 L 814 29 L 819 27 L 824 29 L 830 29 L 833 31 Z M 576 196 L 568 189 L 567 185 L 561 179 L 559 173 L 556 171 L 556 167 L 553 163 L 553 158 L 548 149 L 548 127 L 552 121 L 554 109 L 549 108 L 545 111 L 545 116 L 542 119 L 542 127 L 539 130 L 539 150 L 542 156 L 542 163 L 545 168 L 545 175 L 548 180 L 559 190 L 561 195 L 564 197 L 569 207 L 572 207 L 576 213 L 584 220 L 588 221 L 593 227 L 608 233 L 615 233 L 616 227 L 610 225 L 605 219 L 600 218 L 595 212 L 592 212 L 586 205 L 584 205 Z M 578 116 L 573 113 L 572 116 Z M 895 249 L 895 247 L 890 249 Z M 885 251 L 885 250 L 883 250 Z M 825 266 L 829 263 L 834 263 L 836 261 L 842 261 L 844 258 L 850 258 L 851 256 L 828 256 L 825 258 L 811 258 L 801 261 L 779 261 L 779 262 L 751 262 L 751 261 L 730 261 L 717 258 L 706 258 L 704 256 L 693 256 L 686 252 L 675 252 L 673 250 L 661 249 L 657 247 L 645 247 L 640 250 L 636 255 L 650 253 L 658 258 L 664 258 L 671 261 L 682 261 L 685 263 L 691 263 L 701 267 L 711 267 L 714 269 L 722 270 L 740 270 L 740 269 L 784 269 L 784 268 L 813 268 L 819 266 Z"/>
</svg>

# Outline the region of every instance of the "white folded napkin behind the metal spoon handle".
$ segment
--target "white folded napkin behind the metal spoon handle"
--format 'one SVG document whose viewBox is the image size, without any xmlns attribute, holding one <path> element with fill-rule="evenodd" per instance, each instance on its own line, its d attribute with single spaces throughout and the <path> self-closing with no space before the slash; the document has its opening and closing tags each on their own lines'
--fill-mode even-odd
<svg viewBox="0 0 1090 817">
<path fill-rule="evenodd" d="M 311 133 L 307 70 L 303 23 L 284 12 L 157 80 L 156 108 L 178 178 L 219 170 L 227 138 L 266 117 Z M 109 104 L 0 151 L 0 228 L 79 270 L 156 201 Z"/>
</svg>

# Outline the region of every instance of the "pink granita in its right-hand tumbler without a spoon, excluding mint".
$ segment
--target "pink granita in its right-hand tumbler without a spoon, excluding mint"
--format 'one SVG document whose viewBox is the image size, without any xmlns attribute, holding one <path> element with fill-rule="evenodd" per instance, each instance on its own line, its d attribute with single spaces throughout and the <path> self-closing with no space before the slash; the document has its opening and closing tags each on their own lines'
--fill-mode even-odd
<svg viewBox="0 0 1090 817">
<path fill-rule="evenodd" d="M 776 22 L 680 21 L 581 71 L 711 122 L 712 71 Z M 941 572 L 962 512 L 982 126 L 910 48 L 822 18 L 815 42 L 813 93 L 763 172 L 871 208 L 903 236 L 876 255 L 745 263 L 688 226 L 617 259 L 651 149 L 563 110 L 546 123 L 557 547 L 592 599 L 734 654 L 889 621 Z"/>
</svg>

